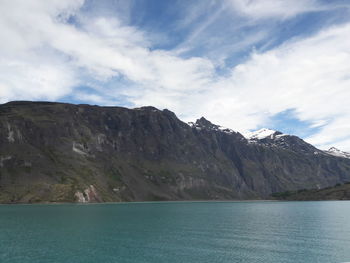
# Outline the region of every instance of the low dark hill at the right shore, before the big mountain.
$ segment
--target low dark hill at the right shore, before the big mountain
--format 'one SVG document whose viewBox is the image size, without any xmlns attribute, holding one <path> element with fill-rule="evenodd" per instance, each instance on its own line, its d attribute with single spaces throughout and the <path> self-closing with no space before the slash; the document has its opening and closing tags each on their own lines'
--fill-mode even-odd
<svg viewBox="0 0 350 263">
<path fill-rule="evenodd" d="M 288 201 L 350 200 L 350 183 L 322 189 L 302 189 L 272 194 L 273 199 Z"/>
</svg>

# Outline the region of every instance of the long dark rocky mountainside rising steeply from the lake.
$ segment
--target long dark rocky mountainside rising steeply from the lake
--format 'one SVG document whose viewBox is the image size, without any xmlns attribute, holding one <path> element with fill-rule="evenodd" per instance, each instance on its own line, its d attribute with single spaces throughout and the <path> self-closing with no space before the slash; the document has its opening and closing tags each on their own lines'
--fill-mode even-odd
<svg viewBox="0 0 350 263">
<path fill-rule="evenodd" d="M 0 202 L 250 199 L 350 181 L 350 159 L 280 138 L 153 107 L 2 104 Z"/>
</svg>

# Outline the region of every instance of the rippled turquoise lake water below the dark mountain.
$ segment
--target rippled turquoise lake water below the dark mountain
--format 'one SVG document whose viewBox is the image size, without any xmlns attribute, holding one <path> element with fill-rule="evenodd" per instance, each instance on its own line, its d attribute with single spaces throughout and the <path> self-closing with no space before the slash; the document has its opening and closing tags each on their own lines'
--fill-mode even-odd
<svg viewBox="0 0 350 263">
<path fill-rule="evenodd" d="M 0 206 L 1 263 L 347 261 L 347 201 Z"/>
</svg>

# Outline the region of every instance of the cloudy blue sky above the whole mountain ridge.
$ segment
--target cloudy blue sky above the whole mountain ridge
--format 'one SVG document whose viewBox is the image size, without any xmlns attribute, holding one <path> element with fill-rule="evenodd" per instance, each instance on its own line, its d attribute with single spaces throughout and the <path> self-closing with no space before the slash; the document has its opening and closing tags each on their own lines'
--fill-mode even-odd
<svg viewBox="0 0 350 263">
<path fill-rule="evenodd" d="M 155 106 L 350 151 L 348 0 L 0 0 L 0 103 Z"/>
</svg>

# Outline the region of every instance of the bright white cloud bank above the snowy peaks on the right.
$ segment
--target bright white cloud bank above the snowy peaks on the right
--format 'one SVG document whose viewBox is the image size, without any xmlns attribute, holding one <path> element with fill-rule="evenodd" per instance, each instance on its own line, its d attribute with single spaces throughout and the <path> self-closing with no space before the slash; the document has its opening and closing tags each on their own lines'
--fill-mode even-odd
<svg viewBox="0 0 350 263">
<path fill-rule="evenodd" d="M 242 132 L 294 109 L 298 119 L 321 127 L 319 133 L 307 138 L 309 142 L 349 150 L 348 61 L 350 24 L 345 24 L 265 53 L 253 53 L 228 77 L 211 78 L 200 89 L 170 94 L 160 87 L 146 87 L 136 102 L 171 105 L 185 120 L 204 115 Z"/>
</svg>

